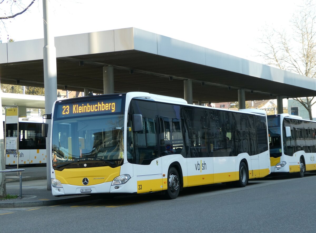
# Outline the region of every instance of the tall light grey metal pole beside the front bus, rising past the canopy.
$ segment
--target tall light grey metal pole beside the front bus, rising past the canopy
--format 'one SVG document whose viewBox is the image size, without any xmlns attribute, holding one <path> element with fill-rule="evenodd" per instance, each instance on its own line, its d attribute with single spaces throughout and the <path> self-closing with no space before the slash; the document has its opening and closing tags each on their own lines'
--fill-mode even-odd
<svg viewBox="0 0 316 233">
<path fill-rule="evenodd" d="M 43 48 L 43 63 L 44 63 L 44 88 L 45 88 L 45 112 L 52 113 L 54 101 L 57 100 L 57 68 L 56 68 L 56 48 L 54 35 L 50 30 L 50 1 L 43 0 L 43 21 L 44 21 L 44 48 Z M 52 120 L 47 120 L 48 134 L 46 140 L 46 174 L 47 174 L 47 190 L 52 190 L 51 187 L 51 127 Z"/>
</svg>

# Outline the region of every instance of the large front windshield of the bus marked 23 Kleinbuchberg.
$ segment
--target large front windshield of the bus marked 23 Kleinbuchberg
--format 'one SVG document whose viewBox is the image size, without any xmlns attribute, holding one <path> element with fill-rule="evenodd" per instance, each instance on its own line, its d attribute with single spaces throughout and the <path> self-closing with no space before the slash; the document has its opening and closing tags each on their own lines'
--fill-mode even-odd
<svg viewBox="0 0 316 233">
<path fill-rule="evenodd" d="M 54 121 L 53 168 L 119 166 L 124 154 L 124 115 L 81 116 Z"/>
</svg>

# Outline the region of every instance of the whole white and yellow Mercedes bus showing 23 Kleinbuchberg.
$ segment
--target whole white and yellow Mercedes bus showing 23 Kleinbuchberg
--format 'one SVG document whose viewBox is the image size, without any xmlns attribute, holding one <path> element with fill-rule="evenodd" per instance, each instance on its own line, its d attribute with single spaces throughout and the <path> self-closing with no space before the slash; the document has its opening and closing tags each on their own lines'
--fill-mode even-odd
<svg viewBox="0 0 316 233">
<path fill-rule="evenodd" d="M 143 92 L 56 101 L 52 194 L 164 191 L 174 199 L 190 186 L 244 187 L 270 173 L 265 112 L 247 111 Z"/>
</svg>

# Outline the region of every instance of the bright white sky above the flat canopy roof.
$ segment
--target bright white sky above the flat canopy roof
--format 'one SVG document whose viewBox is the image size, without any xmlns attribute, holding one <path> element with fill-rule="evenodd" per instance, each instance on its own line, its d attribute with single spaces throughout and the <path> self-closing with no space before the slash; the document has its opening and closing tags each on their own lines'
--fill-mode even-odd
<svg viewBox="0 0 316 233">
<path fill-rule="evenodd" d="M 20 0 L 28 5 L 31 0 Z M 54 36 L 136 27 L 264 63 L 257 50 L 264 28 L 290 30 L 303 0 L 50 0 Z M 0 16 L 5 9 L 0 4 Z M 43 38 L 42 0 L 0 24 L 0 39 Z"/>
</svg>

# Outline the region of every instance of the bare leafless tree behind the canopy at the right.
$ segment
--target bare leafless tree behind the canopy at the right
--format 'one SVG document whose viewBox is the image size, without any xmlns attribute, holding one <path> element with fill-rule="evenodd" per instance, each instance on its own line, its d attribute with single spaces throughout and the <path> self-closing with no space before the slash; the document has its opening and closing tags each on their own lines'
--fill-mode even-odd
<svg viewBox="0 0 316 233">
<path fill-rule="evenodd" d="M 310 78 L 316 77 L 316 6 L 313 0 L 307 0 L 304 6 L 295 12 L 291 24 L 293 34 L 284 31 L 266 30 L 261 42 L 266 51 L 259 51 L 268 65 L 298 73 Z M 294 98 L 303 105 L 312 120 L 314 97 Z"/>
</svg>

